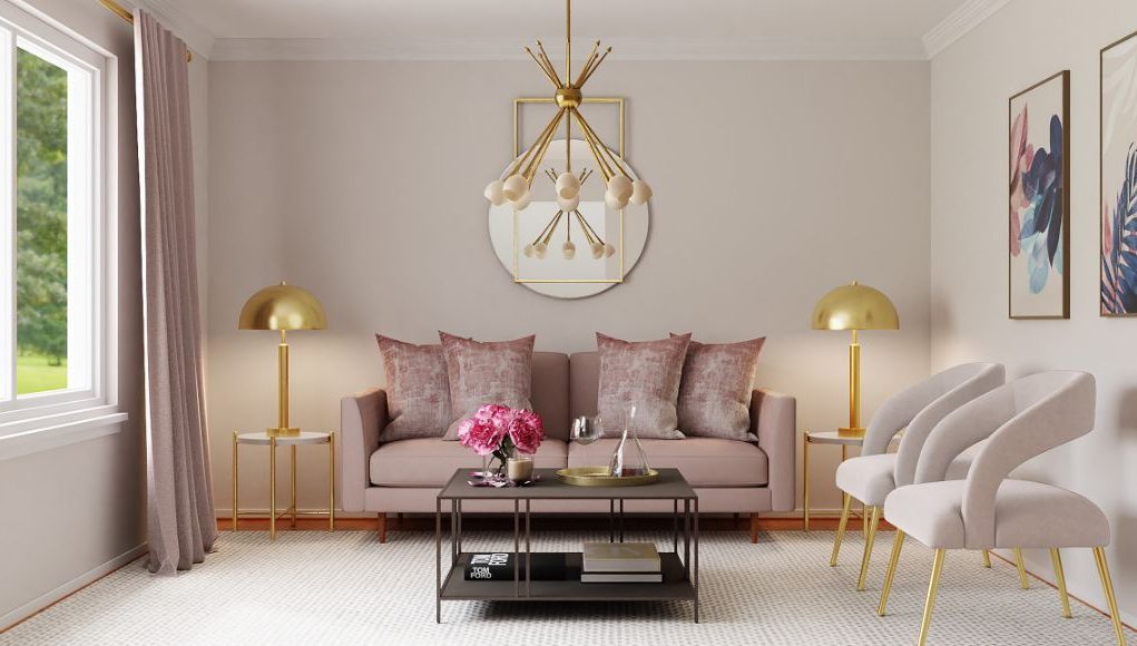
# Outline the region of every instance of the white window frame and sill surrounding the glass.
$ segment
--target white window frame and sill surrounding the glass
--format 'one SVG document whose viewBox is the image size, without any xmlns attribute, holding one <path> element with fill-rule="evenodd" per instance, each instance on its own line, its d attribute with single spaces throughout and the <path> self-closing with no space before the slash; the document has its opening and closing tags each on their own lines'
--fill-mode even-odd
<svg viewBox="0 0 1137 646">
<path fill-rule="evenodd" d="M 0 365 L 0 442 L 26 440 L 40 431 L 56 431 L 53 434 L 61 437 L 125 420 L 117 412 L 117 389 L 109 379 L 115 372 L 109 349 L 117 328 L 111 318 L 115 290 L 110 284 L 110 278 L 117 275 L 113 266 L 116 259 L 109 252 L 115 226 L 108 217 L 114 213 L 109 187 L 116 177 L 115 156 L 107 144 L 113 131 L 109 57 L 48 20 L 0 2 L 0 66 L 13 80 L 17 47 L 68 73 L 68 389 L 16 396 L 16 113 L 11 82 L 0 86 L 0 132 L 13 133 L 0 136 L 0 248 L 11 250 L 10 262 L 0 263 L 0 289 L 10 290 L 8 298 L 0 299 L 0 361 L 11 357 L 9 366 Z M 76 150 L 85 154 L 75 155 Z M 75 182 L 76 175 L 83 181 Z M 75 245 L 76 240 L 84 243 Z M 10 325 L 2 324 L 6 316 Z M 85 347 L 89 353 L 73 353 L 75 347 Z M 5 453 L 0 445 L 0 458 Z"/>
</svg>

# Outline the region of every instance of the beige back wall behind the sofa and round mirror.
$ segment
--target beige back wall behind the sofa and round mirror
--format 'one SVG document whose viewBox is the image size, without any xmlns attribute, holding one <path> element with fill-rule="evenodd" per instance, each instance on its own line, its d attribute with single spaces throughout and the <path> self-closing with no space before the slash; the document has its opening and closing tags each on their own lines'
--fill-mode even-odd
<svg viewBox="0 0 1137 646">
<path fill-rule="evenodd" d="M 329 330 L 290 337 L 292 421 L 309 429 L 338 428 L 339 398 L 382 382 L 374 332 L 429 342 L 439 329 L 536 332 L 539 349 L 567 351 L 594 348 L 596 330 L 765 334 L 758 382 L 799 398 L 803 429 L 833 428 L 846 419 L 848 340 L 808 322 L 822 293 L 853 279 L 888 292 L 904 326 L 864 336 L 868 411 L 927 374 L 927 64 L 612 59 L 589 89 L 629 98 L 629 158 L 655 187 L 653 229 L 625 284 L 564 301 L 513 284 L 485 230 L 481 192 L 509 158 L 512 99 L 548 90 L 531 64 L 214 63 L 208 383 L 219 513 L 230 431 L 269 424 L 275 405 L 275 339 L 238 332 L 236 314 L 282 279 L 327 308 Z M 242 506 L 264 508 L 256 450 L 242 461 Z M 325 496 L 322 454 L 309 450 L 304 507 Z M 836 455 L 815 454 L 822 507 L 837 506 Z"/>
</svg>

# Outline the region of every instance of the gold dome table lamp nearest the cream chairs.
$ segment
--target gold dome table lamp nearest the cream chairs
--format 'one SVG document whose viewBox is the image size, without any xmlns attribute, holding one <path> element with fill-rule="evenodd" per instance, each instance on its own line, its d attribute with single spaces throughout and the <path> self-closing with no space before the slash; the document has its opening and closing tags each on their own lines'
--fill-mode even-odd
<svg viewBox="0 0 1137 646">
<path fill-rule="evenodd" d="M 885 293 L 853 281 L 821 297 L 813 308 L 814 330 L 852 330 L 849 343 L 849 425 L 837 429 L 844 437 L 864 437 L 861 425 L 861 343 L 858 330 L 898 330 L 901 317 Z"/>
</svg>

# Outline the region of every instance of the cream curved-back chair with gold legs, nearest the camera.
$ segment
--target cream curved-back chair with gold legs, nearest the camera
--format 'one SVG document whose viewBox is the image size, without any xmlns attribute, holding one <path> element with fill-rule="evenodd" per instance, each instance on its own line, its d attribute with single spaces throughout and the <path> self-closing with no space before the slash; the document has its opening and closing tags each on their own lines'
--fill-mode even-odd
<svg viewBox="0 0 1137 646">
<path fill-rule="evenodd" d="M 1088 433 L 1094 428 L 1094 378 L 1052 371 L 1024 376 L 961 407 L 936 426 L 920 456 L 919 484 L 901 487 L 885 502 L 885 519 L 896 525 L 879 614 L 883 615 L 904 537 L 936 550 L 920 626 L 928 638 L 936 590 L 948 549 L 1044 547 L 1051 550 L 1065 616 L 1070 603 L 1059 549 L 1090 547 L 1102 579 L 1118 644 L 1124 645 L 1117 598 L 1103 547 L 1110 523 L 1090 500 L 1052 484 L 1009 478 L 1028 459 Z M 948 464 L 980 440 L 965 480 L 935 481 Z"/>
</svg>

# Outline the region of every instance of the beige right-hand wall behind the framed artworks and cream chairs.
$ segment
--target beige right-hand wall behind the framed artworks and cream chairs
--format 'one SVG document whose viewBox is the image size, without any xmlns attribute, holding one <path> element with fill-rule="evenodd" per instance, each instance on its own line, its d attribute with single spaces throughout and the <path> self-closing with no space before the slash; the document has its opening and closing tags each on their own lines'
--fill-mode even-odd
<svg viewBox="0 0 1137 646">
<path fill-rule="evenodd" d="M 1098 50 L 1137 25 L 1127 0 L 1016 0 L 936 57 L 932 86 L 932 367 L 1001 361 L 1097 378 L 1097 429 L 1019 473 L 1088 496 L 1109 514 L 1118 597 L 1137 618 L 1137 322 L 1097 315 Z M 1071 71 L 1071 320 L 1009 321 L 1007 98 Z M 1045 552 L 1030 568 L 1051 575 Z M 1088 550 L 1065 557 L 1071 590 L 1103 597 Z M 1104 607 L 1101 606 L 1099 607 Z"/>
</svg>

